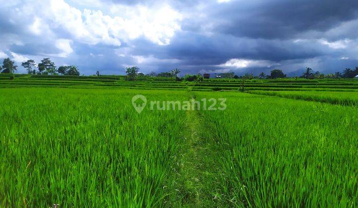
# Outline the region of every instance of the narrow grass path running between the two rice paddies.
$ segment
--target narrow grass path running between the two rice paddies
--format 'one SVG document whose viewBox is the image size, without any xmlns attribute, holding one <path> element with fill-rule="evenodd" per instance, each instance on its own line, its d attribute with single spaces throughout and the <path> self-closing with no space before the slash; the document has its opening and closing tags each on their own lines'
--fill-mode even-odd
<svg viewBox="0 0 358 208">
<path fill-rule="evenodd" d="M 180 206 L 183 207 L 217 207 L 214 178 L 215 157 L 213 143 L 203 135 L 203 120 L 196 110 L 186 111 L 184 138 L 186 149 L 183 150 L 181 170 L 177 179 L 180 188 Z"/>
</svg>

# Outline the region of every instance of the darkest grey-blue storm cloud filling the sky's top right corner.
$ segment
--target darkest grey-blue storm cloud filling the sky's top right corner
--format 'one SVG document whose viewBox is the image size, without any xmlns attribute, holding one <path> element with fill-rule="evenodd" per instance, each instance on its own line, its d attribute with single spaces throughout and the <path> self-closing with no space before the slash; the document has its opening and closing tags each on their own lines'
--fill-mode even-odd
<svg viewBox="0 0 358 208">
<path fill-rule="evenodd" d="M 327 31 L 357 18 L 357 0 L 238 0 L 208 8 L 213 30 L 238 37 L 282 39 Z"/>
</svg>

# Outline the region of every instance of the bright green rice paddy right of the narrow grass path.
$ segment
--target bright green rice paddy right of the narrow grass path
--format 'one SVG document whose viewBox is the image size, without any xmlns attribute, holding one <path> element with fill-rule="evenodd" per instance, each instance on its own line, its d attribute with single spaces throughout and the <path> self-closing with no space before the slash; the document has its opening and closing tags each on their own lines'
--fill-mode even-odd
<svg viewBox="0 0 358 208">
<path fill-rule="evenodd" d="M 200 111 L 218 148 L 205 187 L 229 206 L 357 207 L 358 111 L 241 93 L 225 111 Z M 210 140 L 208 140 L 210 141 Z"/>
</svg>

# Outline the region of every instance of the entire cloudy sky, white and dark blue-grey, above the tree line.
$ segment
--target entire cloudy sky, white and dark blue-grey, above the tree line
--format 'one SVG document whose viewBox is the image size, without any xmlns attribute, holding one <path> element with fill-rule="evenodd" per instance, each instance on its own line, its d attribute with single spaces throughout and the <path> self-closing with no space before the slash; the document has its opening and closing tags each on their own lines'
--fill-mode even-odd
<svg viewBox="0 0 358 208">
<path fill-rule="evenodd" d="M 0 59 L 87 75 L 343 71 L 357 31 L 358 0 L 0 0 Z"/>
</svg>

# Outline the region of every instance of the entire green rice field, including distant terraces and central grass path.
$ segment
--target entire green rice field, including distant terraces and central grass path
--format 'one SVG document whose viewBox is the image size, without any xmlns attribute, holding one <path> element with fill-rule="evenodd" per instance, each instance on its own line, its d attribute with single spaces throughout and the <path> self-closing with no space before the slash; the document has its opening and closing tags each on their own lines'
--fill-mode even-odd
<svg viewBox="0 0 358 208">
<path fill-rule="evenodd" d="M 0 207 L 357 207 L 358 80 L 240 88 L 0 75 Z M 227 108 L 139 114 L 137 94 Z"/>
</svg>

